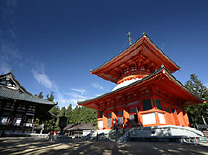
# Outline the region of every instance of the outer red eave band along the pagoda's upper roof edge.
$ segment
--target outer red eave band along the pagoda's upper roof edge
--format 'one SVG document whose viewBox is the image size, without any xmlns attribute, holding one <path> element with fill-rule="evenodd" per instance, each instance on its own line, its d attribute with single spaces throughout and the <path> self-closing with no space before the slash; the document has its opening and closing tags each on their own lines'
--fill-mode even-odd
<svg viewBox="0 0 208 155">
<path fill-rule="evenodd" d="M 129 57 L 130 55 L 137 55 L 136 52 L 142 51 L 141 46 L 145 46 L 145 48 L 151 48 L 148 49 L 155 57 L 157 58 L 157 61 L 160 60 L 160 63 L 164 63 L 165 67 L 171 72 L 175 72 L 176 70 L 180 70 L 181 68 L 172 61 L 168 56 L 166 56 L 162 50 L 160 50 L 146 35 L 143 35 L 140 39 L 138 39 L 137 42 L 135 42 L 133 45 L 131 45 L 126 50 L 122 51 L 109 61 L 105 62 L 100 67 L 91 70 L 91 74 L 95 74 L 105 80 L 111 81 L 116 83 L 118 81 L 119 77 L 112 77 L 112 75 L 109 73 L 109 69 L 115 69 L 116 67 L 119 67 L 119 65 L 122 64 L 122 61 L 126 59 L 126 57 Z M 158 66 L 161 66 L 161 64 L 158 64 Z M 159 67 L 158 67 L 159 68 Z M 157 69 L 158 69 L 157 68 Z"/>
</svg>

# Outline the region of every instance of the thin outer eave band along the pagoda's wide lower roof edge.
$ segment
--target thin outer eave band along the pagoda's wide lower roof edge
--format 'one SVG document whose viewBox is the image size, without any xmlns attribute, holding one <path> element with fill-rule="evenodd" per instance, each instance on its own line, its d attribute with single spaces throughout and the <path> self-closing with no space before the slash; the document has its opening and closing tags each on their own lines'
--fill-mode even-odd
<svg viewBox="0 0 208 155">
<path fill-rule="evenodd" d="M 198 103 L 203 103 L 204 100 L 201 99 L 200 97 L 196 96 L 195 94 L 193 94 L 192 92 L 190 92 L 186 87 L 184 87 L 182 85 L 181 82 L 179 82 L 178 80 L 176 80 L 176 78 L 171 75 L 169 73 L 169 71 L 163 67 L 161 67 L 160 69 L 158 69 L 157 71 L 155 71 L 154 73 L 150 74 L 149 76 L 143 78 L 140 81 L 136 81 L 128 86 L 122 87 L 120 89 L 117 89 L 115 91 L 103 94 L 101 96 L 98 96 L 96 98 L 93 99 L 89 99 L 89 100 L 85 100 L 85 101 L 81 101 L 78 102 L 78 105 L 82 105 L 82 106 L 86 106 L 89 108 L 93 108 L 93 109 L 97 109 L 97 103 L 100 100 L 105 100 L 110 96 L 116 96 L 118 94 L 122 94 L 124 92 L 128 92 L 131 89 L 134 89 L 136 87 L 142 87 L 144 85 L 148 85 L 151 84 L 151 82 L 153 82 L 154 80 L 158 80 L 157 77 L 159 78 L 159 76 L 162 75 L 164 78 L 166 78 L 166 82 L 170 85 L 173 85 L 173 87 L 177 90 L 180 90 L 181 95 L 188 100 L 190 100 L 190 102 L 186 102 L 186 104 L 184 106 L 188 106 L 188 105 L 192 105 L 192 104 L 198 104 Z M 160 79 L 161 80 L 161 79 Z M 162 81 L 161 81 L 162 83 Z M 175 91 L 176 92 L 176 91 Z"/>
</svg>

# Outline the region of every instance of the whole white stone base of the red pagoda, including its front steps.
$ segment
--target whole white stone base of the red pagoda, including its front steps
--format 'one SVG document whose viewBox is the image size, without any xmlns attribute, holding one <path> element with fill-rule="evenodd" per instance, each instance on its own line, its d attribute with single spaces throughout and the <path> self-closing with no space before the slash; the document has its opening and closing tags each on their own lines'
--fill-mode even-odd
<svg viewBox="0 0 208 155">
<path fill-rule="evenodd" d="M 207 143 L 208 138 L 199 130 L 173 125 L 154 127 L 135 127 L 119 130 L 95 130 L 82 137 L 95 141 L 155 141 L 179 143 Z"/>
</svg>

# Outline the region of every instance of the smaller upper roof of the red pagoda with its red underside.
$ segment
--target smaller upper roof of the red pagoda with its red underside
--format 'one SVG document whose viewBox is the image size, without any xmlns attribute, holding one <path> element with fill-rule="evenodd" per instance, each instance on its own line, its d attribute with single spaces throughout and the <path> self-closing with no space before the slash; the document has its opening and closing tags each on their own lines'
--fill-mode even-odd
<svg viewBox="0 0 208 155">
<path fill-rule="evenodd" d="M 140 59 L 149 66 L 152 66 L 152 72 L 154 72 L 155 69 L 159 69 L 162 64 L 170 73 L 174 73 L 181 69 L 175 62 L 166 56 L 146 34 L 143 34 L 143 36 L 129 48 L 105 62 L 100 67 L 91 70 L 91 74 L 117 83 L 120 77 L 118 74 L 115 74 L 115 69 L 122 70 L 122 66 L 128 66 L 131 62 L 134 64 L 138 63 Z"/>
</svg>

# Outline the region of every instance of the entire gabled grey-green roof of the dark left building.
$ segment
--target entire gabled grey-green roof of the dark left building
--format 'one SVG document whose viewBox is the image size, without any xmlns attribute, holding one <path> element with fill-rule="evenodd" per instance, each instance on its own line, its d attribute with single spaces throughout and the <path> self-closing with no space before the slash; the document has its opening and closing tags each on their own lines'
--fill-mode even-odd
<svg viewBox="0 0 208 155">
<path fill-rule="evenodd" d="M 26 89 L 16 80 L 11 72 L 0 75 L 0 98 L 27 101 L 38 104 L 56 105 L 54 102 L 33 96 L 31 93 L 26 91 Z"/>
</svg>

